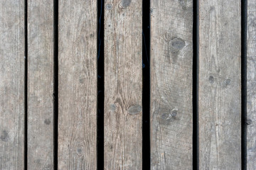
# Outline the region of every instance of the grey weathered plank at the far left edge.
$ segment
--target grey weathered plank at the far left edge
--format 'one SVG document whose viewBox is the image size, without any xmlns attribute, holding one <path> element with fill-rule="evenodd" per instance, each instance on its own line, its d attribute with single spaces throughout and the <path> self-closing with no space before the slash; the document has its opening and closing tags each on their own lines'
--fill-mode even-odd
<svg viewBox="0 0 256 170">
<path fill-rule="evenodd" d="M 24 1 L 0 1 L 0 169 L 24 168 Z"/>
</svg>

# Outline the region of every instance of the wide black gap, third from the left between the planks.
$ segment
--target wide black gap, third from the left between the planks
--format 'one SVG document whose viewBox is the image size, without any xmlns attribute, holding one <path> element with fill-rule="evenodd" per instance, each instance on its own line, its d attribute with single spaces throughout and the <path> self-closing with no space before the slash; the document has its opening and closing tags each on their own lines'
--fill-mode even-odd
<svg viewBox="0 0 256 170">
<path fill-rule="evenodd" d="M 104 0 L 97 0 L 97 169 L 104 169 Z"/>
</svg>

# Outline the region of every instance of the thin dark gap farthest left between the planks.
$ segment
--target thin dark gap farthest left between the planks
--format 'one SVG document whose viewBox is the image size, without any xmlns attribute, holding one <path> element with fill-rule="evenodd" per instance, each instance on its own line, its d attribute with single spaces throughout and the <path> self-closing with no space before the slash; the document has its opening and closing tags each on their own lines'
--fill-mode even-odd
<svg viewBox="0 0 256 170">
<path fill-rule="evenodd" d="M 28 1 L 24 0 L 24 169 L 28 169 Z"/>
</svg>

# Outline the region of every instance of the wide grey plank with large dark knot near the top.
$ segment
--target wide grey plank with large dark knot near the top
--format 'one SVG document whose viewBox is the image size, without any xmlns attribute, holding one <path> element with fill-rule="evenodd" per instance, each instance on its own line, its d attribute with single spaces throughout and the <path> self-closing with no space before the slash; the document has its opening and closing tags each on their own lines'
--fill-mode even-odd
<svg viewBox="0 0 256 170">
<path fill-rule="evenodd" d="M 150 10 L 151 169 L 192 169 L 193 1 Z"/>
</svg>

